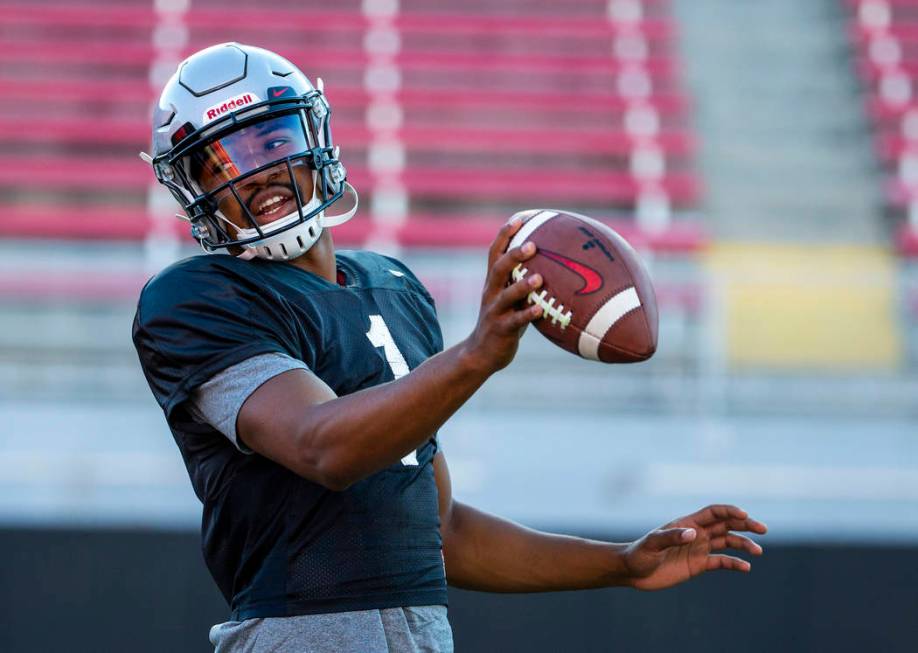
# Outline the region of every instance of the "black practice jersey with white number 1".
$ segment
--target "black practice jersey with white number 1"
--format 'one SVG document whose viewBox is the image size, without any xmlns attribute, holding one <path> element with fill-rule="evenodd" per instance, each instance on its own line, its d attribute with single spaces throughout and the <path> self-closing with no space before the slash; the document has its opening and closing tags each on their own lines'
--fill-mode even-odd
<svg viewBox="0 0 918 653">
<path fill-rule="evenodd" d="M 435 437 L 417 464 L 333 492 L 240 452 L 187 410 L 197 386 L 259 354 L 303 361 L 340 396 L 442 349 L 433 300 L 403 264 L 356 251 L 337 261 L 344 285 L 287 263 L 197 256 L 140 297 L 134 344 L 204 504 L 204 557 L 233 619 L 446 604 Z"/>
</svg>

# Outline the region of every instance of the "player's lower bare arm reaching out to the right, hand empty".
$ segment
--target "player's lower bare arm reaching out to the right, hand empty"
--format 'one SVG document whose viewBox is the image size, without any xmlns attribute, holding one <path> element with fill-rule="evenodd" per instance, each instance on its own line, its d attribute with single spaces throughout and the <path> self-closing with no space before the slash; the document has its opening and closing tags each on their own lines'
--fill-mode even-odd
<svg viewBox="0 0 918 653">
<path fill-rule="evenodd" d="M 440 531 L 450 585 L 485 592 L 549 592 L 628 586 L 671 587 L 712 569 L 749 571 L 748 561 L 715 553 L 762 547 L 737 531 L 764 534 L 745 511 L 708 506 L 630 543 L 588 540 L 535 531 L 454 501 L 446 458 L 434 473 Z"/>
</svg>

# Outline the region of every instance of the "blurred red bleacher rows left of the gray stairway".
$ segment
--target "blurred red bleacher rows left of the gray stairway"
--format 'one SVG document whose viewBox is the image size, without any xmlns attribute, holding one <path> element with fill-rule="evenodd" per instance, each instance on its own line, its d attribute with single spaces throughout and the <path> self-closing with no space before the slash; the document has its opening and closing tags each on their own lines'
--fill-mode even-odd
<svg viewBox="0 0 918 653">
<path fill-rule="evenodd" d="M 182 56 L 239 40 L 325 78 L 373 218 L 339 240 L 382 227 L 396 244 L 482 245 L 512 210 L 558 205 L 697 249 L 701 230 L 673 219 L 701 187 L 668 3 L 495 6 L 3 2 L 0 234 L 182 232 L 137 158 L 154 89 Z"/>
</svg>

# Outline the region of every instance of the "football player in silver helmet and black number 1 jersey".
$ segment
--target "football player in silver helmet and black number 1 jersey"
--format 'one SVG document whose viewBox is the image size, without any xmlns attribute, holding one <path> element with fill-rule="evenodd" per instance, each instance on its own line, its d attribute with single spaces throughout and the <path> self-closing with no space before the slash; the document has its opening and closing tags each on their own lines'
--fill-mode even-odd
<svg viewBox="0 0 918 653">
<path fill-rule="evenodd" d="M 144 155 L 212 255 L 144 288 L 133 338 L 203 503 L 232 615 L 218 651 L 451 651 L 447 581 L 492 592 L 661 589 L 761 547 L 714 505 L 630 543 L 533 531 L 454 501 L 437 430 L 513 359 L 534 253 L 491 245 L 478 322 L 443 350 L 401 262 L 336 251 L 357 210 L 322 92 L 289 61 L 226 43 L 166 84 Z"/>
</svg>

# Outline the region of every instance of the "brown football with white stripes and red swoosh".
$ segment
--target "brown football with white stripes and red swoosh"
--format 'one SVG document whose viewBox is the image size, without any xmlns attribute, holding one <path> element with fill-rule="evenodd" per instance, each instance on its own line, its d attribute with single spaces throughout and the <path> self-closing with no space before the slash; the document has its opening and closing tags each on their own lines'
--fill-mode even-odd
<svg viewBox="0 0 918 653">
<path fill-rule="evenodd" d="M 536 254 L 511 281 L 539 273 L 528 301 L 542 307 L 542 335 L 582 358 L 603 363 L 647 360 L 657 348 L 657 302 L 637 252 L 610 227 L 558 209 L 521 211 L 510 248 L 527 241 Z"/>
</svg>

